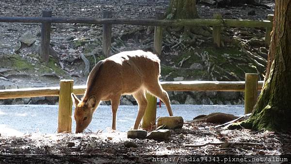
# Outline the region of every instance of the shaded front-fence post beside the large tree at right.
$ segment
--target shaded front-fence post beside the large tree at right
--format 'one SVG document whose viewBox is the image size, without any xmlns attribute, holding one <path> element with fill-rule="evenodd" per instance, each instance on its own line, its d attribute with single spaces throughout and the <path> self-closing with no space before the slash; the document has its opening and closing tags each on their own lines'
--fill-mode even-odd
<svg viewBox="0 0 291 164">
<path fill-rule="evenodd" d="M 257 103 L 258 97 L 258 79 L 257 73 L 245 74 L 244 86 L 244 114 L 252 113 L 254 106 Z"/>
</svg>

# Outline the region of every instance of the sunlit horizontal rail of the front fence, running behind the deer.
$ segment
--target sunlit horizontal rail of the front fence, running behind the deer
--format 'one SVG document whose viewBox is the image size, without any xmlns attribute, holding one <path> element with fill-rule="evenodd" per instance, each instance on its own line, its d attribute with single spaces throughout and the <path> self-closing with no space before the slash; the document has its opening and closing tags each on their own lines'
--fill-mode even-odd
<svg viewBox="0 0 291 164">
<path fill-rule="evenodd" d="M 233 91 L 244 92 L 245 82 L 213 82 L 213 81 L 181 81 L 161 82 L 166 91 Z M 263 81 L 258 82 L 258 90 L 261 90 Z M 73 86 L 73 93 L 83 95 L 87 86 Z M 32 98 L 44 96 L 59 96 L 60 87 L 22 88 L 0 90 L 0 99 L 7 98 Z"/>
</svg>

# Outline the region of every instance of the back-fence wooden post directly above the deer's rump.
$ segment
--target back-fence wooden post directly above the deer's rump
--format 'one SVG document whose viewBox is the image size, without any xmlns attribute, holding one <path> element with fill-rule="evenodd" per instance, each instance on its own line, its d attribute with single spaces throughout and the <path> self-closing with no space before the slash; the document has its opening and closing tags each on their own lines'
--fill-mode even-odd
<svg viewBox="0 0 291 164">
<path fill-rule="evenodd" d="M 163 19 L 163 16 L 163 13 L 156 13 L 156 19 Z M 154 53 L 158 56 L 162 54 L 162 33 L 163 28 L 161 26 L 156 26 L 154 33 Z"/>
</svg>

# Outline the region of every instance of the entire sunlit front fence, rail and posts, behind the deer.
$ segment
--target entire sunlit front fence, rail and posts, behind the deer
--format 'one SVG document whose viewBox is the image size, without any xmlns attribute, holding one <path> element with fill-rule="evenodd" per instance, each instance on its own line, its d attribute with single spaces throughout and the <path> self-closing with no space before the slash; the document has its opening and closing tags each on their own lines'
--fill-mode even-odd
<svg viewBox="0 0 291 164">
<path fill-rule="evenodd" d="M 212 82 L 212 81 L 182 81 L 161 82 L 166 91 L 240 91 L 245 92 L 245 111 L 251 113 L 257 100 L 258 90 L 261 90 L 263 81 L 258 82 L 258 74 L 246 74 L 245 82 Z M 44 96 L 59 96 L 58 132 L 71 131 L 72 127 L 72 100 L 71 93 L 83 95 L 86 85 L 73 86 L 72 80 L 61 80 L 59 87 L 23 88 L 0 90 L 0 99 L 31 98 Z M 156 119 L 156 99 L 147 97 L 148 104 L 143 119 L 143 128 L 147 128 Z M 252 106 L 253 105 L 253 106 Z M 149 112 L 150 111 L 150 112 Z"/>
</svg>

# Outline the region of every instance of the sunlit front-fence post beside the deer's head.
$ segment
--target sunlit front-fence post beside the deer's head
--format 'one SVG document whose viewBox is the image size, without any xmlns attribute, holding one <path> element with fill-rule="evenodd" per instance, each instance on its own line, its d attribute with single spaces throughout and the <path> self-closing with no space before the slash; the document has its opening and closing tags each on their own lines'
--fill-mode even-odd
<svg viewBox="0 0 291 164">
<path fill-rule="evenodd" d="M 72 131 L 73 80 L 60 81 L 58 132 Z"/>
</svg>

